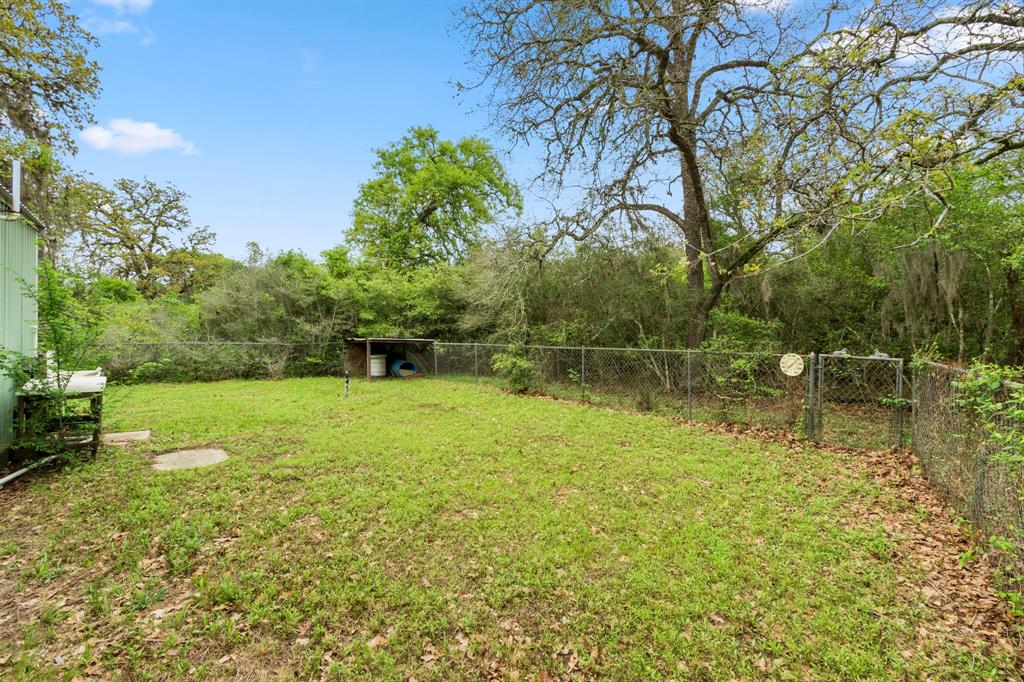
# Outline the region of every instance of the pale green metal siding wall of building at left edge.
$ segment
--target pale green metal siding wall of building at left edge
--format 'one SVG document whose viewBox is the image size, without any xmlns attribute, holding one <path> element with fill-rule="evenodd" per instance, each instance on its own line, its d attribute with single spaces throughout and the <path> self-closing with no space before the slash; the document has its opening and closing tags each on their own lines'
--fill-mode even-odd
<svg viewBox="0 0 1024 682">
<path fill-rule="evenodd" d="M 36 303 L 25 283 L 36 285 L 37 232 L 14 213 L 0 212 L 0 346 L 25 354 L 36 350 Z M 14 387 L 0 376 L 0 451 L 11 439 Z"/>
</svg>

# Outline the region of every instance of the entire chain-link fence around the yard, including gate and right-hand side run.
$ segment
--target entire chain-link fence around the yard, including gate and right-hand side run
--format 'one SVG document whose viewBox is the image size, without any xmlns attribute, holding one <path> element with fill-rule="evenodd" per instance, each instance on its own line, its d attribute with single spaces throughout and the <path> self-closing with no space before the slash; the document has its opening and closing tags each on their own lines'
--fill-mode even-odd
<svg viewBox="0 0 1024 682">
<path fill-rule="evenodd" d="M 965 404 L 964 370 L 932 363 L 907 377 L 901 358 L 836 352 L 801 355 L 803 368 L 788 376 L 777 353 L 487 343 L 435 343 L 424 369 L 444 380 L 504 386 L 494 370 L 499 353 L 530 360 L 534 390 L 553 397 L 869 450 L 901 445 L 909 436 L 924 474 L 948 503 L 986 536 L 1010 539 L 1006 581 L 1024 593 L 1022 467 L 996 457 L 992 424 Z M 122 343 L 92 349 L 83 367 L 96 366 L 115 384 L 341 377 L 346 344 Z"/>
</svg>

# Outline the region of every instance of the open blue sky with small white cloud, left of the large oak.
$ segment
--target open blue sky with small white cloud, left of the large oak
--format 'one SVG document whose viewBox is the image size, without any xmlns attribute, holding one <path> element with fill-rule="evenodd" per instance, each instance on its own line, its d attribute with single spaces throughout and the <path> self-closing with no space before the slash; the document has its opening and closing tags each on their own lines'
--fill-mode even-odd
<svg viewBox="0 0 1024 682">
<path fill-rule="evenodd" d="M 470 78 L 454 3 L 72 6 L 100 41 L 103 91 L 71 165 L 104 182 L 174 182 L 228 256 L 249 241 L 312 256 L 341 242 L 373 150 L 412 125 L 494 138 L 450 85 Z"/>
</svg>

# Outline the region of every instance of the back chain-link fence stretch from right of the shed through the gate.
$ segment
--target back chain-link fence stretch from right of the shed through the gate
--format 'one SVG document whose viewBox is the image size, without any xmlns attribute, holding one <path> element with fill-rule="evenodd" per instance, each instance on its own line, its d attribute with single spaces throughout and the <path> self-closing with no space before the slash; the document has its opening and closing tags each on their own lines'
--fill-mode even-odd
<svg viewBox="0 0 1024 682">
<path fill-rule="evenodd" d="M 802 355 L 788 376 L 781 354 L 436 343 L 432 372 L 496 381 L 497 353 L 516 352 L 537 370 L 534 389 L 555 397 L 671 414 L 703 422 L 764 426 L 853 447 L 903 438 L 903 361 L 845 353 Z"/>
</svg>

